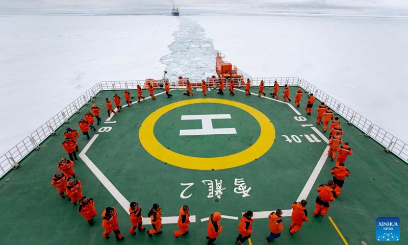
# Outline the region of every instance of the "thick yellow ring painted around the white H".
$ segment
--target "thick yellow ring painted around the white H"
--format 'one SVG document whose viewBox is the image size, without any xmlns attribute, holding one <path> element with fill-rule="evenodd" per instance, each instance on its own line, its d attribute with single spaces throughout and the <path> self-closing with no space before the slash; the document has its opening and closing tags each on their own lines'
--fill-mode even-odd
<svg viewBox="0 0 408 245">
<path fill-rule="evenodd" d="M 218 103 L 238 107 L 252 115 L 261 126 L 258 140 L 246 150 L 223 157 L 191 157 L 175 153 L 165 148 L 155 137 L 156 121 L 168 111 L 186 105 L 198 103 Z M 195 99 L 175 102 L 161 107 L 144 119 L 139 130 L 139 139 L 144 149 L 160 161 L 171 165 L 197 170 L 226 169 L 247 164 L 264 155 L 272 146 L 275 139 L 275 128 L 267 116 L 248 105 L 220 99 Z M 226 143 L 226 142 L 225 142 Z"/>
</svg>

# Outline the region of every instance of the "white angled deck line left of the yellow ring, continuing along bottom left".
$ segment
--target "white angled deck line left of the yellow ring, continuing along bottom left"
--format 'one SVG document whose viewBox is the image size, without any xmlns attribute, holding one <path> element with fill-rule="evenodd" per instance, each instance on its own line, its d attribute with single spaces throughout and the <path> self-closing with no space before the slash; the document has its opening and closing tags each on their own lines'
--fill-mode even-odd
<svg viewBox="0 0 408 245">
<path fill-rule="evenodd" d="M 84 150 L 81 151 L 79 157 L 85 162 L 85 164 L 89 167 L 92 173 L 96 176 L 96 178 L 102 183 L 105 188 L 112 194 L 112 196 L 116 199 L 116 201 L 122 206 L 124 211 L 129 214 L 129 204 L 130 202 L 120 193 L 118 189 L 106 178 L 106 176 L 96 167 L 96 165 L 89 159 L 85 154 L 91 147 L 92 143 L 96 140 L 98 134 L 92 136 L 91 140 L 85 145 Z M 179 220 L 179 216 L 168 216 L 162 217 L 162 224 L 177 224 Z M 190 222 L 195 222 L 195 215 L 190 216 Z M 143 224 L 150 225 L 150 218 L 143 218 Z"/>
</svg>

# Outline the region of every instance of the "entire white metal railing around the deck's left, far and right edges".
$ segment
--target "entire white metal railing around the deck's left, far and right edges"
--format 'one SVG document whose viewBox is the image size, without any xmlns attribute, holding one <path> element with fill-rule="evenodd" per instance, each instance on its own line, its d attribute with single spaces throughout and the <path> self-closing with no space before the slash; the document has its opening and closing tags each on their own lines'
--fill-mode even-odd
<svg viewBox="0 0 408 245">
<path fill-rule="evenodd" d="M 221 81 L 218 78 L 204 79 L 207 82 L 207 86 L 218 85 Z M 309 93 L 313 93 L 317 100 L 324 102 L 328 107 L 333 109 L 337 114 L 345 118 L 350 125 L 354 125 L 365 133 L 366 136 L 373 138 L 375 141 L 383 145 L 387 152 L 392 152 L 399 158 L 408 163 L 408 145 L 396 138 L 392 134 L 388 133 L 384 129 L 373 125 L 370 120 L 350 109 L 349 107 L 341 104 L 338 100 L 334 99 L 324 91 L 318 89 L 313 84 L 304 79 L 296 77 L 276 77 L 276 78 L 250 78 L 252 86 L 259 86 L 261 80 L 264 81 L 265 86 L 273 86 L 277 81 L 280 86 L 288 84 L 289 86 L 298 86 Z M 246 82 L 246 78 L 244 78 Z M 161 83 L 160 83 L 161 82 Z M 172 88 L 185 88 L 186 80 L 168 80 Z M 200 87 L 201 79 L 191 79 L 192 87 Z M 228 88 L 227 81 L 223 79 L 225 88 Z M 87 105 L 90 101 L 93 102 L 96 94 L 104 90 L 123 90 L 123 89 L 136 89 L 137 85 L 143 86 L 145 80 L 131 80 L 131 81 L 103 81 L 95 84 L 85 93 L 79 96 L 76 100 L 70 103 L 62 111 L 58 112 L 51 119 L 46 121 L 41 127 L 36 129 L 30 136 L 25 137 L 17 145 L 15 145 L 10 151 L 0 156 L 0 178 L 3 177 L 10 169 L 18 167 L 20 162 L 30 152 L 39 149 L 39 145 L 50 135 L 54 135 L 55 131 L 61 127 L 68 119 L 75 113 L 79 113 L 79 110 Z M 155 88 L 160 87 L 163 80 L 155 80 L 153 85 Z M 242 85 L 242 81 L 234 79 L 234 86 L 238 87 Z"/>
</svg>

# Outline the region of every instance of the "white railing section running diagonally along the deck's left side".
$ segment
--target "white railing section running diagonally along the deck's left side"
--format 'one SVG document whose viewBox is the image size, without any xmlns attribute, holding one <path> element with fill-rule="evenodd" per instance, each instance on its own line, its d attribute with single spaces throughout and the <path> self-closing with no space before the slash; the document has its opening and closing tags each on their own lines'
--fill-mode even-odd
<svg viewBox="0 0 408 245">
<path fill-rule="evenodd" d="M 7 174 L 12 168 L 18 168 L 18 163 L 24 159 L 24 157 L 29 155 L 32 151 L 38 150 L 40 144 L 49 136 L 55 135 L 56 130 L 68 122 L 70 116 L 79 113 L 79 110 L 84 105 L 93 101 L 96 94 L 102 91 L 101 86 L 102 83 L 97 83 L 92 86 L 62 111 L 58 112 L 55 116 L 36 129 L 30 136 L 25 137 L 11 148 L 11 150 L 2 155 L 0 157 L 0 178 Z"/>
</svg>

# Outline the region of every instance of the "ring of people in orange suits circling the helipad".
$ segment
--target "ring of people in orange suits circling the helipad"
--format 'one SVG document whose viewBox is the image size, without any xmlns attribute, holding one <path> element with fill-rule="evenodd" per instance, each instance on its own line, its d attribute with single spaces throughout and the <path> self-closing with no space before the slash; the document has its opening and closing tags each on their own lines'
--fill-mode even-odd
<svg viewBox="0 0 408 245">
<path fill-rule="evenodd" d="M 230 90 L 231 95 L 235 95 L 234 92 L 234 83 L 232 81 L 228 82 L 228 89 Z M 223 95 L 223 82 L 218 83 L 218 94 Z M 266 96 L 264 92 L 264 81 L 261 81 L 259 86 L 258 96 L 263 94 Z M 194 95 L 191 92 L 191 83 L 187 80 L 186 82 L 187 88 L 187 95 Z M 251 88 L 251 81 L 248 79 L 246 86 L 245 86 L 245 95 L 251 95 L 250 92 Z M 166 82 L 164 86 L 164 90 L 166 92 L 167 98 L 171 98 L 172 94 L 169 94 L 170 88 L 168 82 Z M 207 95 L 207 85 L 206 81 L 202 80 L 201 82 L 201 91 L 204 96 Z M 148 91 L 150 93 L 151 98 L 154 100 L 156 99 L 154 95 L 154 87 L 152 84 L 148 83 Z M 272 97 L 276 100 L 279 99 L 278 96 L 279 91 L 279 84 L 277 81 L 274 82 L 273 92 L 271 92 Z M 140 100 L 144 100 L 145 97 L 142 95 L 142 88 L 140 85 L 137 86 L 138 92 L 138 102 Z M 284 102 L 291 102 L 289 97 L 290 95 L 290 88 L 288 85 L 285 85 L 284 89 Z M 298 89 L 296 96 L 295 96 L 295 104 L 297 107 L 300 106 L 300 100 L 303 95 L 302 89 Z M 124 98 L 127 104 L 127 107 L 132 105 L 131 99 L 134 96 L 125 89 L 124 90 Z M 113 101 L 115 103 L 117 112 L 120 112 L 122 109 L 121 106 L 121 98 L 118 94 L 115 93 L 113 96 Z M 113 105 L 110 99 L 106 98 L 106 108 L 107 108 L 107 116 L 110 117 L 111 113 L 116 114 L 115 110 L 113 109 Z M 315 97 L 313 93 L 310 94 L 307 105 L 305 110 L 307 111 L 308 115 L 312 114 L 313 104 L 315 102 Z M 84 117 L 80 118 L 78 122 L 79 130 L 82 132 L 83 135 L 90 139 L 89 131 L 93 130 L 96 131 L 94 126 L 95 118 L 97 125 L 100 124 L 101 118 L 99 117 L 100 108 L 96 105 L 92 105 L 90 111 L 87 111 Z M 331 161 L 336 159 L 335 166 L 330 170 L 330 174 L 333 175 L 333 180 L 328 180 L 327 184 L 322 184 L 317 187 L 318 195 L 316 197 L 316 208 L 314 210 L 315 217 L 323 217 L 326 213 L 328 208 L 330 207 L 330 203 L 334 202 L 340 195 L 341 190 L 343 188 L 344 179 L 350 176 L 349 170 L 346 168 L 344 162 L 348 156 L 352 155 L 351 148 L 349 147 L 348 142 L 344 142 L 342 140 L 343 130 L 341 128 L 340 120 L 338 117 L 334 117 L 333 111 L 330 108 L 326 107 L 326 105 L 322 102 L 321 105 L 317 108 L 317 121 L 318 125 L 323 124 L 323 131 L 327 131 L 328 124 L 330 123 L 329 129 L 329 141 L 328 145 L 329 151 L 327 152 L 327 156 L 330 157 Z M 93 217 L 96 216 L 95 210 L 95 203 L 92 198 L 87 198 L 82 194 L 82 184 L 81 181 L 75 179 L 75 171 L 73 166 L 75 164 L 74 161 L 77 161 L 77 152 L 79 152 L 78 148 L 78 137 L 79 132 L 77 130 L 68 127 L 66 132 L 64 133 L 65 140 L 62 142 L 62 148 L 66 151 L 69 156 L 69 159 L 65 157 L 61 157 L 60 161 L 57 164 L 58 171 L 54 174 L 53 180 L 51 185 L 56 187 L 59 195 L 61 198 L 66 198 L 70 200 L 73 205 L 77 205 L 77 201 L 79 201 L 78 213 L 83 215 L 85 220 L 90 226 L 93 226 Z M 337 158 L 336 158 L 337 155 Z M 64 193 L 65 192 L 65 193 Z M 292 223 L 290 224 L 289 233 L 293 235 L 296 233 L 303 225 L 304 222 L 309 222 L 308 212 L 306 209 L 307 201 L 301 200 L 300 202 L 294 202 L 292 204 L 292 214 L 291 219 Z M 129 213 L 130 213 L 130 221 L 131 221 L 131 228 L 129 229 L 129 233 L 132 235 L 136 234 L 136 228 L 138 231 L 144 231 L 145 228 L 142 226 L 142 209 L 139 207 L 139 204 L 136 202 L 131 202 L 129 206 Z M 281 209 L 277 209 L 269 214 L 269 229 L 270 234 L 266 237 L 268 242 L 272 241 L 281 236 L 281 232 L 283 231 L 283 222 L 282 222 L 282 214 L 283 211 Z M 109 234 L 113 231 L 116 237 L 116 240 L 123 240 L 124 237 L 121 235 L 119 231 L 119 225 L 117 220 L 117 211 L 114 207 L 107 207 L 102 215 L 102 226 L 104 228 L 103 237 L 109 239 Z M 149 209 L 147 216 L 151 220 L 152 229 L 147 231 L 147 235 L 152 237 L 153 234 L 161 234 L 162 233 L 162 211 L 161 207 L 158 204 L 153 204 L 152 208 Z M 179 230 L 174 231 L 174 237 L 179 237 L 184 234 L 188 233 L 188 227 L 190 224 L 189 219 L 189 207 L 184 205 L 179 210 L 179 219 L 177 221 L 177 227 Z M 216 238 L 220 235 L 222 231 L 222 226 L 220 224 L 221 219 L 220 212 L 214 212 L 209 216 L 209 223 L 207 229 L 207 239 L 208 245 L 213 245 Z M 235 242 L 238 244 L 244 244 L 244 242 L 251 236 L 252 231 L 252 222 L 254 221 L 253 212 L 248 210 L 241 216 L 241 220 L 238 225 L 238 237 L 236 238 Z"/>
</svg>

